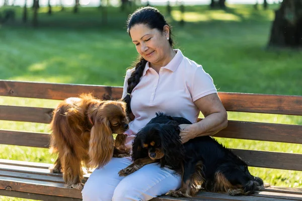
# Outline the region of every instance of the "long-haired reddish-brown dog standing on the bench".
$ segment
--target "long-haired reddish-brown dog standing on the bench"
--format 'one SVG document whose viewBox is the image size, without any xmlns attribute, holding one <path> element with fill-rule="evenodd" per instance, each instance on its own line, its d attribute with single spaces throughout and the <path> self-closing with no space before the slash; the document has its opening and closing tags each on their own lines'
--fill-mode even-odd
<svg viewBox="0 0 302 201">
<path fill-rule="evenodd" d="M 126 104 L 121 100 L 100 100 L 91 94 L 69 97 L 53 111 L 50 127 L 51 151 L 58 153 L 51 171 L 62 170 L 68 187 L 83 189 L 82 162 L 90 169 L 129 155 L 123 135 L 128 129 Z M 114 142 L 112 134 L 121 135 Z"/>
</svg>

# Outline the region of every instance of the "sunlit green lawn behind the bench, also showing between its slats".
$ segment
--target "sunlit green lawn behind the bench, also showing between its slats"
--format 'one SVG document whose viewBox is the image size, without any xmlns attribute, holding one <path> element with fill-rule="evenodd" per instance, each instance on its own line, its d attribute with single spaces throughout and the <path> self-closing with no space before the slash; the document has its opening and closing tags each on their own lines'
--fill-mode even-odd
<svg viewBox="0 0 302 201">
<path fill-rule="evenodd" d="M 160 9 L 165 13 L 165 8 Z M 302 95 L 302 52 L 266 49 L 273 10 L 254 11 L 240 5 L 227 11 L 207 9 L 186 7 L 184 27 L 179 26 L 177 8 L 167 19 L 173 26 L 176 48 L 203 65 L 218 91 Z M 122 86 L 125 69 L 137 56 L 124 29 L 128 13 L 110 8 L 104 25 L 96 8 L 81 8 L 77 15 L 68 10 L 53 16 L 45 12 L 45 8 L 40 10 L 39 28 L 20 20 L 0 27 L 0 79 Z M 17 18 L 20 16 L 18 11 Z M 0 96 L 0 105 L 49 108 L 57 103 Z M 229 112 L 229 120 L 302 125 L 301 117 L 285 115 Z M 49 132 L 46 124 L 11 121 L 0 121 L 0 129 Z M 302 153 L 298 144 L 218 140 L 230 148 Z M 43 148 L 0 145 L 0 149 L 0 158 L 54 161 Z M 298 171 L 250 170 L 271 185 L 302 187 Z"/>
</svg>

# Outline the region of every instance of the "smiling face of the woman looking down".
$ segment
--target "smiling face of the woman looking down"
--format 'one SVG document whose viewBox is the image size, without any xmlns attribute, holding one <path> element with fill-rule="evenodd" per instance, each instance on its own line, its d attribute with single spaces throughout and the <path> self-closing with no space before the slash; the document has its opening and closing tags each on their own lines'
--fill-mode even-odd
<svg viewBox="0 0 302 201">
<path fill-rule="evenodd" d="M 164 31 L 161 32 L 157 29 L 149 29 L 143 24 L 134 25 L 129 30 L 138 54 L 153 64 L 165 60 L 166 54 L 169 53 L 169 48 L 171 48 L 167 40 L 169 31 L 167 25 L 164 27 Z"/>
</svg>

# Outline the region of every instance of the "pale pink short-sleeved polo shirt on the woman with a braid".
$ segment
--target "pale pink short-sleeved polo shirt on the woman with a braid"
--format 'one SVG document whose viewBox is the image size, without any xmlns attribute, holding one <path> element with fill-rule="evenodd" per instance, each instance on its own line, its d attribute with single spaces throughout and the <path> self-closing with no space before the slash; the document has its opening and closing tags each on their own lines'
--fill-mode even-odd
<svg viewBox="0 0 302 201">
<path fill-rule="evenodd" d="M 194 101 L 217 92 L 213 79 L 201 65 L 185 57 L 179 49 L 175 51 L 174 58 L 159 73 L 147 62 L 139 83 L 131 93 L 131 110 L 135 119 L 126 131 L 127 148 L 131 148 L 135 134 L 156 117 L 156 112 L 184 117 L 195 123 L 200 111 Z M 127 80 L 133 70 L 126 72 L 122 98 L 127 94 Z"/>
</svg>

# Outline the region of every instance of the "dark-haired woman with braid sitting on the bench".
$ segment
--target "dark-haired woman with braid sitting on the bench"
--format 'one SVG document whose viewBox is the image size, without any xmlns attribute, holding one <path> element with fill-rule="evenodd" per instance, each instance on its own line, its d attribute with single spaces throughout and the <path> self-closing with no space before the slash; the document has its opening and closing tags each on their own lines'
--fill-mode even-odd
<svg viewBox="0 0 302 201">
<path fill-rule="evenodd" d="M 122 96 L 132 119 L 126 133 L 128 148 L 138 130 L 159 111 L 194 123 L 180 125 L 183 143 L 226 127 L 227 114 L 212 78 L 202 66 L 173 49 L 170 26 L 157 9 L 135 11 L 127 31 L 140 55 L 135 68 L 126 72 Z M 205 118 L 197 123 L 200 111 Z M 83 200 L 149 200 L 181 185 L 180 176 L 156 163 L 119 177 L 118 171 L 131 163 L 129 157 L 113 158 L 96 169 L 84 186 Z"/>
</svg>

